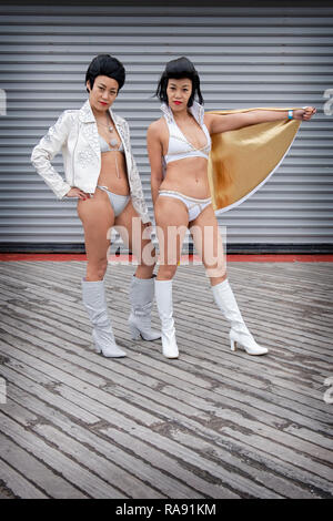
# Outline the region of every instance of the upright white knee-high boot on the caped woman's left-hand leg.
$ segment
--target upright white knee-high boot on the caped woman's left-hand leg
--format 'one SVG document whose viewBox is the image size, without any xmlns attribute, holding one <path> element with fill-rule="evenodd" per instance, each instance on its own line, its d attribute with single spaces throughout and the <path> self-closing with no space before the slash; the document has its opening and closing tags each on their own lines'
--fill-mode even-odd
<svg viewBox="0 0 333 521">
<path fill-rule="evenodd" d="M 178 358 L 172 306 L 172 280 L 155 279 L 155 299 L 162 325 L 162 353 L 167 358 Z"/>
</svg>

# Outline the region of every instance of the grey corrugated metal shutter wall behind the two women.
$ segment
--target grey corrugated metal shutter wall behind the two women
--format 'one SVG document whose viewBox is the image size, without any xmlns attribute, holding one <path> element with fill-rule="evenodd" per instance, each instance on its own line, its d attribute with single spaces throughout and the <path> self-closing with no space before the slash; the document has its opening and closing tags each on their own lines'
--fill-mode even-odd
<svg viewBox="0 0 333 521">
<path fill-rule="evenodd" d="M 323 95 L 333 86 L 333 8 L 1 6 L 0 13 L 2 251 L 83 243 L 74 201 L 56 200 L 30 153 L 62 110 L 84 102 L 87 67 L 101 52 L 127 68 L 114 110 L 130 123 L 151 215 L 145 131 L 160 116 L 152 95 L 168 60 L 195 63 L 206 110 L 315 105 L 275 174 L 220 222 L 230 251 L 332 245 L 333 116 L 323 113 Z M 53 164 L 62 172 L 61 156 Z"/>
</svg>

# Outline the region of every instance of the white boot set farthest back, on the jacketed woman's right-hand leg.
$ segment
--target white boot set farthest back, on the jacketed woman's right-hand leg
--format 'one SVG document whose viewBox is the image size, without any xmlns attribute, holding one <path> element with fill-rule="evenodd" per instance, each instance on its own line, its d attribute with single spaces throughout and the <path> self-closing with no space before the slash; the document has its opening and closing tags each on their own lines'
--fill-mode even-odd
<svg viewBox="0 0 333 521">
<path fill-rule="evenodd" d="M 133 340 L 158 340 L 159 331 L 151 328 L 151 309 L 154 299 L 154 277 L 138 278 L 133 275 L 130 287 L 131 315 L 129 326 Z"/>
</svg>

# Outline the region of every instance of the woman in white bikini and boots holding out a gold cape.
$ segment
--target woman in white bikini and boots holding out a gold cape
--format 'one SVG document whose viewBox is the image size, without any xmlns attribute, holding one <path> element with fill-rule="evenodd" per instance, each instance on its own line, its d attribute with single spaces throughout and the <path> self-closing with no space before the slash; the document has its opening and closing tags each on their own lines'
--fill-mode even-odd
<svg viewBox="0 0 333 521">
<path fill-rule="evenodd" d="M 150 125 L 147 140 L 160 245 L 155 298 L 162 353 L 179 357 L 172 278 L 189 228 L 214 300 L 230 321 L 231 349 L 239 345 L 249 355 L 264 355 L 268 348 L 249 331 L 230 287 L 215 212 L 236 206 L 262 186 L 287 153 L 301 121 L 310 120 L 315 109 L 204 113 L 199 74 L 186 58 L 167 64 L 157 95 L 163 115 Z"/>
</svg>

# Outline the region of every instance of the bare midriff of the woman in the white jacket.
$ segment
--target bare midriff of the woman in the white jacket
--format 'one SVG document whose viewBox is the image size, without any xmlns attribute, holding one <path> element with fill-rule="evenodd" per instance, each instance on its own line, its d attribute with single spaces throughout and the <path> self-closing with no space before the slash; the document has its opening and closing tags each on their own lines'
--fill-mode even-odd
<svg viewBox="0 0 333 521">
<path fill-rule="evenodd" d="M 118 172 L 117 175 L 117 165 Z M 108 186 L 110 192 L 119 195 L 129 195 L 130 185 L 127 174 L 127 162 L 122 152 L 103 152 L 101 154 L 101 172 L 98 178 L 98 184 L 101 186 Z"/>
</svg>

